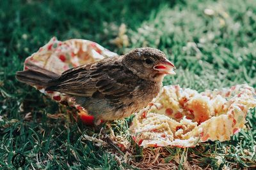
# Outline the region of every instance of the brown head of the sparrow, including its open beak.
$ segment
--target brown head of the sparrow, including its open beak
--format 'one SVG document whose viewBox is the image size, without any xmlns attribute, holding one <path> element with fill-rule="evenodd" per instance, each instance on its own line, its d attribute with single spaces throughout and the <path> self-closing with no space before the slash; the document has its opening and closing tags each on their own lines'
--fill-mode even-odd
<svg viewBox="0 0 256 170">
<path fill-rule="evenodd" d="M 175 74 L 175 66 L 156 48 L 136 48 L 125 54 L 122 62 L 132 73 L 145 80 L 162 81 L 164 75 Z"/>
</svg>

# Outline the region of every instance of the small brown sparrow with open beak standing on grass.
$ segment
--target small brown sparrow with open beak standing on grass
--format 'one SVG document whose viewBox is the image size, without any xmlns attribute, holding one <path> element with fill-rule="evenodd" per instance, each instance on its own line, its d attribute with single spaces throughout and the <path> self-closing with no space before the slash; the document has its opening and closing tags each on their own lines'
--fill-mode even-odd
<svg viewBox="0 0 256 170">
<path fill-rule="evenodd" d="M 129 117 L 145 108 L 163 87 L 175 66 L 161 50 L 136 48 L 116 57 L 84 64 L 56 74 L 32 62 L 17 80 L 73 97 L 94 117 L 94 124 Z"/>
</svg>

